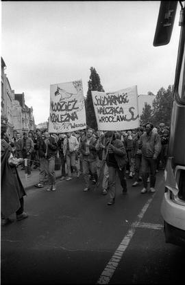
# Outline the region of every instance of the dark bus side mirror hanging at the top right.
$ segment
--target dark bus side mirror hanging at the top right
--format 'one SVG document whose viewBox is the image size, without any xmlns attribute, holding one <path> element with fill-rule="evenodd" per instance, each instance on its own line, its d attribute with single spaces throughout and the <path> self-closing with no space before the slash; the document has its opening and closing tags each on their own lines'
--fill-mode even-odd
<svg viewBox="0 0 185 285">
<path fill-rule="evenodd" d="M 178 1 L 161 1 L 153 46 L 167 45 L 171 39 Z"/>
</svg>

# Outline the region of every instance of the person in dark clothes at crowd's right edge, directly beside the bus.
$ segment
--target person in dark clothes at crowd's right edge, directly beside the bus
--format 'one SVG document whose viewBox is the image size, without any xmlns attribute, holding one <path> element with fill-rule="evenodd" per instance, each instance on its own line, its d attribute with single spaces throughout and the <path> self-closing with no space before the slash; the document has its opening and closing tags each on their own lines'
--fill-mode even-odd
<svg viewBox="0 0 185 285">
<path fill-rule="evenodd" d="M 169 130 L 165 128 L 164 123 L 160 123 L 159 128 L 160 130 L 158 134 L 160 135 L 160 141 L 161 141 L 162 148 L 160 151 L 160 155 L 158 157 L 158 166 L 161 161 L 162 169 L 164 170 L 167 164 L 167 155 L 168 155 L 168 146 L 169 146 Z"/>
</svg>

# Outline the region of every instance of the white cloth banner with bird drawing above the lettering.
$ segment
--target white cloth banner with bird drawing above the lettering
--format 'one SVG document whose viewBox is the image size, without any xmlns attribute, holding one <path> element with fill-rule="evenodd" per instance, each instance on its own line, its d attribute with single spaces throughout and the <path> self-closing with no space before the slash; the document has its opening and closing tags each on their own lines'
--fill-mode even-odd
<svg viewBox="0 0 185 285">
<path fill-rule="evenodd" d="M 50 85 L 49 133 L 86 128 L 82 80 Z"/>
</svg>

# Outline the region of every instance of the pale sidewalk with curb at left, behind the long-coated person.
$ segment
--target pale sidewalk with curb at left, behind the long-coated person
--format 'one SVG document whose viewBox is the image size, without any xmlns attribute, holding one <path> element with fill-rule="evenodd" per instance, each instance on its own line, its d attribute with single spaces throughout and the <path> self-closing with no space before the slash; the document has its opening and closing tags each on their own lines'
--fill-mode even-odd
<svg viewBox="0 0 185 285">
<path fill-rule="evenodd" d="M 28 189 L 34 187 L 34 185 L 39 182 L 39 170 L 33 169 L 32 170 L 32 176 L 30 178 L 28 178 L 26 181 L 25 170 L 21 170 L 21 168 L 22 168 L 21 166 L 19 166 L 17 168 L 18 175 L 21 179 L 21 182 L 23 183 L 23 186 L 25 187 L 25 190 L 28 190 Z M 59 179 L 60 177 L 61 177 L 61 167 L 60 167 L 60 170 L 56 170 L 56 179 Z"/>
</svg>

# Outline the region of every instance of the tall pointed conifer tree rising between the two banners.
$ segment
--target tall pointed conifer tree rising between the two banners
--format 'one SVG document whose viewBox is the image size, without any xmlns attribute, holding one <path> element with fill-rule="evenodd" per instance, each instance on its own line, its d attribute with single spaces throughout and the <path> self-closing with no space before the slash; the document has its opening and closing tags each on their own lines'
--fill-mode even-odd
<svg viewBox="0 0 185 285">
<path fill-rule="evenodd" d="M 97 129 L 97 119 L 93 106 L 93 98 L 91 91 L 105 92 L 101 85 L 99 74 L 97 73 L 95 67 L 90 67 L 90 79 L 88 80 L 88 91 L 85 106 L 87 126 Z"/>
</svg>

